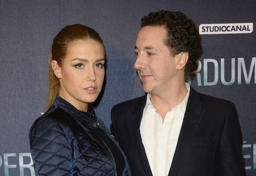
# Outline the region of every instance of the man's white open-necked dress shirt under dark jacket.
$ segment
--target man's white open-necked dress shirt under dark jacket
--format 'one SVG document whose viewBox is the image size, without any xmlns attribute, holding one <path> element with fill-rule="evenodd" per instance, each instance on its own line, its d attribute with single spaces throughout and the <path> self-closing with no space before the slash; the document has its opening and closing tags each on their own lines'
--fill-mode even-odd
<svg viewBox="0 0 256 176">
<path fill-rule="evenodd" d="M 188 90 L 186 97 L 167 112 L 164 122 L 151 104 L 151 95 L 147 94 L 140 133 L 153 176 L 168 176 L 188 103 L 190 92 L 188 83 L 186 88 Z"/>
</svg>

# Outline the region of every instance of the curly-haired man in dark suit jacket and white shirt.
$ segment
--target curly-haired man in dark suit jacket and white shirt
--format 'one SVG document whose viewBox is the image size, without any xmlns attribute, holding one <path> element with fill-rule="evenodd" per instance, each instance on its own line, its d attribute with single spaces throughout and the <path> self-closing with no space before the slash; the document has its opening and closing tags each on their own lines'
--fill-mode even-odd
<svg viewBox="0 0 256 176">
<path fill-rule="evenodd" d="M 242 176 L 233 103 L 196 92 L 199 33 L 181 12 L 141 20 L 134 67 L 147 95 L 113 107 L 111 132 L 134 176 Z"/>
</svg>

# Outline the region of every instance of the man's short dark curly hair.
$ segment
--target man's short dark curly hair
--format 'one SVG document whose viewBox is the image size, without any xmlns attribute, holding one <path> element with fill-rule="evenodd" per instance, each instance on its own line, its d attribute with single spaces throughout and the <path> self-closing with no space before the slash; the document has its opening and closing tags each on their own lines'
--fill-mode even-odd
<svg viewBox="0 0 256 176">
<path fill-rule="evenodd" d="M 200 38 L 195 23 L 180 11 L 151 12 L 141 19 L 141 27 L 166 26 L 167 35 L 164 40 L 171 54 L 188 52 L 188 62 L 185 67 L 185 77 L 197 69 L 197 53 Z"/>
</svg>

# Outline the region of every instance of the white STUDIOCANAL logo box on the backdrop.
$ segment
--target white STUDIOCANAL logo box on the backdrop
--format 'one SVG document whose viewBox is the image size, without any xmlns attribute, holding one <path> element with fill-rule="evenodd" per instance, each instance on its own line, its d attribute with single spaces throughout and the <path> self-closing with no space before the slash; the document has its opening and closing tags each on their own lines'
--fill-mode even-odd
<svg viewBox="0 0 256 176">
<path fill-rule="evenodd" d="M 252 33 L 253 23 L 201 24 L 199 34 Z"/>
</svg>

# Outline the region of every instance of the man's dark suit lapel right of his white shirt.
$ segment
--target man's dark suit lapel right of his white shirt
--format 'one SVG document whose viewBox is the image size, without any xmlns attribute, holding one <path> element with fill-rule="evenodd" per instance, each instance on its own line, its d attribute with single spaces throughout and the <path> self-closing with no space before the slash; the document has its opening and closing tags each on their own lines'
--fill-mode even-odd
<svg viewBox="0 0 256 176">
<path fill-rule="evenodd" d="M 181 166 L 189 144 L 196 132 L 203 114 L 204 110 L 201 109 L 199 95 L 192 87 L 190 87 L 187 108 L 184 114 L 181 132 L 168 176 L 177 175 L 178 169 Z"/>
</svg>

